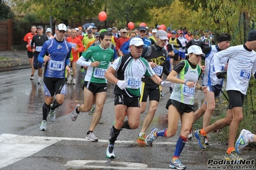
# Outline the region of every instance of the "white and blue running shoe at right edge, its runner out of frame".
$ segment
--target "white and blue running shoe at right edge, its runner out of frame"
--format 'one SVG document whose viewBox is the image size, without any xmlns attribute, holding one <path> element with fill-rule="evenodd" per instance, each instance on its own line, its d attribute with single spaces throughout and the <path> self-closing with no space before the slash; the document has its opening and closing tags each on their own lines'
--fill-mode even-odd
<svg viewBox="0 0 256 170">
<path fill-rule="evenodd" d="M 235 151 L 240 154 L 240 151 L 244 148 L 244 146 L 248 145 L 250 141 L 247 139 L 247 134 L 252 134 L 249 130 L 241 130 L 237 141 L 235 142 Z"/>
</svg>

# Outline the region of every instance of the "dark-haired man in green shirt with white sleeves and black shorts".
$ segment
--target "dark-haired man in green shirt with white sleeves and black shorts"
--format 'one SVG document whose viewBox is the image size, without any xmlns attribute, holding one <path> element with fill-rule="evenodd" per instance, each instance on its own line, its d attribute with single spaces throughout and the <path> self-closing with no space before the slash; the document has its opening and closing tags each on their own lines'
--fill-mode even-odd
<svg viewBox="0 0 256 170">
<path fill-rule="evenodd" d="M 96 101 L 96 111 L 92 117 L 89 131 L 86 139 L 90 141 L 98 141 L 93 133 L 94 128 L 101 119 L 103 106 L 107 97 L 107 79 L 104 77 L 105 72 L 114 60 L 114 50 L 108 48 L 110 46 L 111 34 L 107 31 L 99 35 L 100 44 L 89 47 L 83 52 L 77 63 L 81 66 L 88 66 L 83 84 L 83 98 L 82 105 L 76 105 L 76 108 L 71 112 L 71 120 L 75 121 L 80 112 L 88 112 L 93 104 L 93 98 Z"/>
</svg>

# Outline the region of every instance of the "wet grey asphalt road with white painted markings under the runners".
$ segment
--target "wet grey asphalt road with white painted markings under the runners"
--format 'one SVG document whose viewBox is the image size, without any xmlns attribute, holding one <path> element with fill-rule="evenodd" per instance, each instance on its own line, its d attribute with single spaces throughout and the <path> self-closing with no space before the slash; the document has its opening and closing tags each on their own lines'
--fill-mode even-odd
<svg viewBox="0 0 256 170">
<path fill-rule="evenodd" d="M 175 137 L 158 137 L 152 147 L 135 142 L 146 114 L 141 115 L 141 126 L 136 130 L 123 130 L 115 144 L 115 159 L 105 156 L 110 128 L 114 120 L 113 85 L 108 87 L 108 98 L 103 116 L 94 134 L 99 141 L 85 139 L 92 116 L 81 113 L 78 120 L 71 121 L 70 112 L 83 102 L 80 76 L 78 84 L 68 84 L 64 104 L 56 109 L 56 121 L 40 131 L 44 87 L 37 84 L 37 75 L 30 81 L 30 69 L 0 73 L 0 169 L 169 169 L 175 151 L 180 128 Z M 169 89 L 146 134 L 151 128 L 166 128 L 166 102 Z M 196 101 L 203 100 L 203 93 L 196 93 Z M 180 156 L 187 169 L 207 169 L 207 160 L 222 157 L 226 145 L 211 143 L 202 151 L 196 139 L 188 141 Z M 244 152 L 251 159 L 255 153 Z M 221 159 L 216 159 L 221 160 Z"/>
</svg>

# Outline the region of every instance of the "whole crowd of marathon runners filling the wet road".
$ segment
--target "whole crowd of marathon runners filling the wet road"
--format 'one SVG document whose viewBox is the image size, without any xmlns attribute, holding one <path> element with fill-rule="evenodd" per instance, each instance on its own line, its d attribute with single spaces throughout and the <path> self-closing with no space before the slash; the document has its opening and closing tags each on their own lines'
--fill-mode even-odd
<svg viewBox="0 0 256 170">
<path fill-rule="evenodd" d="M 108 82 L 115 84 L 115 120 L 110 127 L 110 139 L 106 151 L 108 158 L 115 158 L 114 144 L 123 128 L 139 127 L 141 114 L 149 109 L 143 121 L 137 143 L 152 146 L 157 137 L 173 137 L 182 121 L 180 137 L 169 167 L 185 169 L 180 154 L 187 139 L 192 137 L 192 124 L 203 116 L 203 127 L 196 130 L 200 148 L 206 149 L 207 134 L 218 128 L 229 127 L 226 160 L 239 161 L 239 153 L 248 143 L 255 142 L 256 136 L 242 130 L 235 142 L 239 123 L 243 120 L 243 102 L 251 75 L 256 76 L 256 30 L 250 31 L 243 45 L 230 47 L 231 36 L 221 33 L 214 38 L 210 31 L 171 30 L 140 26 L 130 30 L 108 27 L 98 30 L 95 26 L 71 28 L 65 24 L 51 28 L 32 26 L 31 33 L 24 36 L 31 64 L 31 81 L 38 70 L 38 84 L 42 83 L 45 102 L 42 105 L 40 130 L 47 130 L 47 116 L 55 121 L 55 109 L 63 104 L 66 84 L 76 84 L 80 73 L 84 75 L 83 104 L 77 104 L 71 112 L 76 121 L 81 112 L 92 115 L 86 139 L 98 141 L 94 129 L 101 119 L 107 98 Z M 203 65 L 201 61 L 204 61 Z M 44 65 L 44 73 L 42 66 Z M 81 70 L 76 70 L 76 65 Z M 237 69 L 239 68 L 239 69 Z M 163 80 L 163 73 L 167 75 Z M 226 77 L 225 77 L 226 74 Z M 203 84 L 199 84 L 203 77 Z M 226 117 L 210 125 L 223 81 L 229 98 Z M 155 116 L 162 88 L 169 88 L 171 96 L 166 104 L 168 128 L 153 128 L 146 135 Z M 205 102 L 194 111 L 195 90 L 205 93 Z M 125 119 L 125 117 L 127 117 Z"/>
</svg>

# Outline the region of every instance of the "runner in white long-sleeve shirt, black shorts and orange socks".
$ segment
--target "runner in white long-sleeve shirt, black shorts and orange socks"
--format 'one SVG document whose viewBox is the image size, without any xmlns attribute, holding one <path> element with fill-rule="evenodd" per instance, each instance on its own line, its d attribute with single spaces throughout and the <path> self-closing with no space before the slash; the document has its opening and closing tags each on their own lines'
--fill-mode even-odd
<svg viewBox="0 0 256 170">
<path fill-rule="evenodd" d="M 230 125 L 228 132 L 228 150 L 226 160 L 239 160 L 235 151 L 235 135 L 239 123 L 243 120 L 243 102 L 248 89 L 250 77 L 256 77 L 256 30 L 253 29 L 248 34 L 247 42 L 244 45 L 229 47 L 214 54 L 214 67 L 218 79 L 224 78 L 221 72 L 219 61 L 221 58 L 229 58 L 228 71 L 226 78 L 226 93 L 228 94 L 229 104 L 226 117 L 216 121 L 207 128 L 196 130 L 195 135 L 201 148 L 206 149 L 204 135 L 219 128 Z"/>
</svg>

